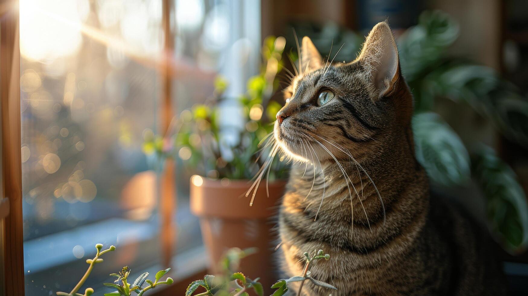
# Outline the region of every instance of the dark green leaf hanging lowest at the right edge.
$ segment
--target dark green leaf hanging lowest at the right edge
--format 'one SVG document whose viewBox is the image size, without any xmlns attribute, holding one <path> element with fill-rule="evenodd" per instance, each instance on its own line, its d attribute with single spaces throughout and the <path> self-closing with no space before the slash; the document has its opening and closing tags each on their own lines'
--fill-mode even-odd
<svg viewBox="0 0 528 296">
<path fill-rule="evenodd" d="M 528 205 L 515 173 L 484 146 L 474 154 L 473 174 L 486 196 L 492 227 L 508 251 L 518 251 L 528 243 Z"/>
</svg>

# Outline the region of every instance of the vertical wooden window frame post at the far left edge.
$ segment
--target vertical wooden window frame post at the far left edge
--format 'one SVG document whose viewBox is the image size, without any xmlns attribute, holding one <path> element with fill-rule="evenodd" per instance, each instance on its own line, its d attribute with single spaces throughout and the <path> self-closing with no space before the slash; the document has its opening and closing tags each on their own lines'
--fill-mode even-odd
<svg viewBox="0 0 528 296">
<path fill-rule="evenodd" d="M 8 212 L 3 218 L 3 291 L 24 295 L 22 235 L 22 160 L 20 131 L 20 47 L 18 1 L 0 0 L 0 99 L 2 116 L 2 183 Z"/>
</svg>

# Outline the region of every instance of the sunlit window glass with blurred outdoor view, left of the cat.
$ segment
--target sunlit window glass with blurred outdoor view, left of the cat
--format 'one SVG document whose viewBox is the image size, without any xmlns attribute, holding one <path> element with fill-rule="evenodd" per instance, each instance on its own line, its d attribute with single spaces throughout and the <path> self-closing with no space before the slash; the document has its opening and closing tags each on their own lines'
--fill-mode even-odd
<svg viewBox="0 0 528 296">
<path fill-rule="evenodd" d="M 242 81 L 232 91 L 245 87 L 257 71 L 260 5 L 176 0 L 171 6 L 174 113 L 208 98 L 218 73 Z M 246 59 L 254 63 L 232 67 L 242 63 L 230 50 L 237 42 L 247 45 Z M 162 0 L 20 2 L 27 295 L 69 292 L 96 243 L 117 251 L 97 266 L 89 286 L 124 265 L 140 272 L 163 264 L 163 170 L 146 158 L 142 144 L 145 136 L 163 133 L 164 44 Z M 177 179 L 172 255 L 202 245 L 188 208 L 188 174 L 177 171 Z"/>
</svg>

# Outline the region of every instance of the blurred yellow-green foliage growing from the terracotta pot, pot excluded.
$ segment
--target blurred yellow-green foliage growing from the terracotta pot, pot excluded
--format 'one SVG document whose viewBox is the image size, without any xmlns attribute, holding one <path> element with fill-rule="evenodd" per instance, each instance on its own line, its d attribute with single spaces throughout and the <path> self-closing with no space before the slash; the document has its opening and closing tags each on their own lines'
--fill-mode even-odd
<svg viewBox="0 0 528 296">
<path fill-rule="evenodd" d="M 188 171 L 206 177 L 251 179 L 266 160 L 259 158 L 257 152 L 272 131 L 271 121 L 275 121 L 281 108 L 270 98 L 279 85 L 277 74 L 284 69 L 281 58 L 285 43 L 282 37 L 266 38 L 261 72 L 247 81 L 245 94 L 226 97 L 224 91 L 229 82 L 217 77 L 212 98 L 184 110 L 175 120 L 176 133 L 170 139 L 148 135 L 143 146 L 145 153 L 159 159 L 178 155 Z M 286 164 L 275 161 L 269 177 L 283 178 L 285 171 Z"/>
</svg>

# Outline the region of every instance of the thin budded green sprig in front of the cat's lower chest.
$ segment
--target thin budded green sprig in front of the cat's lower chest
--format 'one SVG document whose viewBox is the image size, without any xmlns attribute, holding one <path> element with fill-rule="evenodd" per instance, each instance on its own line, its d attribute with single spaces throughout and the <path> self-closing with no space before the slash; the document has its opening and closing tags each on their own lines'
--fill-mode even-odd
<svg viewBox="0 0 528 296">
<path fill-rule="evenodd" d="M 300 282 L 299 290 L 297 290 L 297 296 L 300 296 L 301 291 L 303 291 L 304 281 L 306 281 L 306 280 L 309 280 L 314 285 L 322 286 L 322 287 L 325 287 L 325 288 L 328 288 L 328 289 L 337 290 L 337 288 L 335 288 L 335 286 L 333 286 L 331 284 L 328 284 L 328 283 L 325 283 L 325 282 L 322 282 L 322 281 L 319 281 L 319 280 L 316 280 L 316 279 L 312 278 L 312 272 L 310 272 L 310 270 L 309 270 L 311 263 L 313 263 L 313 262 L 315 262 L 315 261 L 317 261 L 319 259 L 323 259 L 323 258 L 325 260 L 329 260 L 330 259 L 330 255 L 329 254 L 324 254 L 323 250 L 320 249 L 319 251 L 314 251 L 314 255 L 312 255 L 312 256 L 310 256 L 308 252 L 305 252 L 304 256 L 306 257 L 306 263 L 304 265 L 303 275 L 292 276 L 291 278 L 289 278 L 287 280 L 282 279 L 282 280 L 279 280 L 278 282 L 276 282 L 274 285 L 271 286 L 272 289 L 277 289 L 275 291 L 275 293 L 272 294 L 272 296 L 284 295 L 288 291 L 288 284 L 291 283 L 291 282 Z"/>
</svg>

